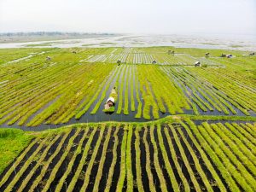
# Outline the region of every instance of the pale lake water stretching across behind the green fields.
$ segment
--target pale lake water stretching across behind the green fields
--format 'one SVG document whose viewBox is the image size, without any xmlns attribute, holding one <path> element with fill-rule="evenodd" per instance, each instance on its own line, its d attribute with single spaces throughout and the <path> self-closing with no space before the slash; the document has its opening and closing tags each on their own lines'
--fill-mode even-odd
<svg viewBox="0 0 256 192">
<path fill-rule="evenodd" d="M 83 38 L 55 41 L 0 44 L 5 48 L 72 48 L 72 47 L 150 47 L 174 46 L 200 49 L 256 50 L 256 35 L 120 35 L 118 37 Z"/>
</svg>

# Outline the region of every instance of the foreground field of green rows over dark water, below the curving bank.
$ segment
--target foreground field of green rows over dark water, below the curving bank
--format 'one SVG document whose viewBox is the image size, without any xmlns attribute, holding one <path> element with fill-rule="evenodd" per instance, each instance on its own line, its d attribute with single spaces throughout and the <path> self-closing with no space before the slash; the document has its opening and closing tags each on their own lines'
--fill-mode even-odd
<svg viewBox="0 0 256 192">
<path fill-rule="evenodd" d="M 37 134 L 1 191 L 255 191 L 256 124 L 165 119 Z"/>
</svg>

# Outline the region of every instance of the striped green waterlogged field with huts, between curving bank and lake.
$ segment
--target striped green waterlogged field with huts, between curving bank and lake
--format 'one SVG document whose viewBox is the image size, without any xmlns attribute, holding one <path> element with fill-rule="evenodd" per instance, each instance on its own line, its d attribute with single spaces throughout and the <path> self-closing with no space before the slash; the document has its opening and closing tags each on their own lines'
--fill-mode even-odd
<svg viewBox="0 0 256 192">
<path fill-rule="evenodd" d="M 234 58 L 220 58 L 224 50 L 212 50 L 205 58 L 206 51 L 1 49 L 0 125 L 255 115 L 256 57 L 232 51 Z M 194 67 L 195 61 L 203 67 Z M 109 115 L 102 109 L 113 87 L 118 97 Z"/>
</svg>

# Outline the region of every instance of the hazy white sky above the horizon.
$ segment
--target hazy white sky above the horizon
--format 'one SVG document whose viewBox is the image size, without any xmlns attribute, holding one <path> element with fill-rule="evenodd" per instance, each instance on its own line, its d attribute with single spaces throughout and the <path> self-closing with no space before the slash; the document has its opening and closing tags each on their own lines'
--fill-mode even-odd
<svg viewBox="0 0 256 192">
<path fill-rule="evenodd" d="M 253 33 L 256 0 L 0 0 L 0 32 Z"/>
</svg>

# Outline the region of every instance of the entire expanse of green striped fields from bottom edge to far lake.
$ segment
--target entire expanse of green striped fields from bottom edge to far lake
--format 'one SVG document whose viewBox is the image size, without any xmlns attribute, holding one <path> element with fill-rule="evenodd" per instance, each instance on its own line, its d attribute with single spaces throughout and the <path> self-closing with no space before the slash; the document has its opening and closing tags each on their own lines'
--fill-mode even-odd
<svg viewBox="0 0 256 192">
<path fill-rule="evenodd" d="M 256 191 L 248 54 L 0 49 L 0 191 Z"/>
</svg>

